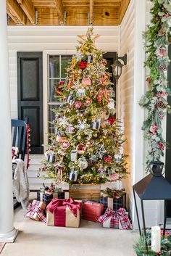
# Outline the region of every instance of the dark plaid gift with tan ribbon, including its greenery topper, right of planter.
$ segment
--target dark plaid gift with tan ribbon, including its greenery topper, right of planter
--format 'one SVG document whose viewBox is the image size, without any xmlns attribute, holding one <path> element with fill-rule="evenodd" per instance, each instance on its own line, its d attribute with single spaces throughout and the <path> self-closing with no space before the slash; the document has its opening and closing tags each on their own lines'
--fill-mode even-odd
<svg viewBox="0 0 171 256">
<path fill-rule="evenodd" d="M 126 193 L 125 189 L 109 189 L 101 191 L 101 204 L 104 205 L 104 211 L 107 208 L 112 210 L 119 210 L 125 208 L 126 205 Z"/>
</svg>

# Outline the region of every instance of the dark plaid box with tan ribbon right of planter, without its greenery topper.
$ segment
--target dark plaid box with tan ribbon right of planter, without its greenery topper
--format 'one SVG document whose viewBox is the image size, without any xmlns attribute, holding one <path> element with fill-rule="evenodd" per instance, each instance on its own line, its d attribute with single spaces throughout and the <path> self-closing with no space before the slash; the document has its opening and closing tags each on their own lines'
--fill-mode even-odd
<svg viewBox="0 0 171 256">
<path fill-rule="evenodd" d="M 125 208 L 125 199 L 126 194 L 120 198 L 101 197 L 100 202 L 104 205 L 104 211 L 107 210 L 107 208 L 119 210 L 120 208 Z"/>
</svg>

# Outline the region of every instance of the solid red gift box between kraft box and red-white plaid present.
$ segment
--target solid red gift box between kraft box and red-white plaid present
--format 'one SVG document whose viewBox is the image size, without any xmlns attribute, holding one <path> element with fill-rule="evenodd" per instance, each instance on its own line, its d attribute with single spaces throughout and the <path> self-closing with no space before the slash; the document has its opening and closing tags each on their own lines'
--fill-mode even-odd
<svg viewBox="0 0 171 256">
<path fill-rule="evenodd" d="M 104 205 L 98 202 L 87 201 L 83 204 L 83 218 L 85 220 L 96 220 L 101 216 L 104 211 Z"/>
</svg>

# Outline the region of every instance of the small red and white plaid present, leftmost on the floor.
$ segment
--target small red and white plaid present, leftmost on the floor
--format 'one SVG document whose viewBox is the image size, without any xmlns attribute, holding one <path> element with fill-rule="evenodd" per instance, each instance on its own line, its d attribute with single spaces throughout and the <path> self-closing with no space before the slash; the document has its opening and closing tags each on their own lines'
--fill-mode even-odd
<svg viewBox="0 0 171 256">
<path fill-rule="evenodd" d="M 46 216 L 44 215 L 45 208 L 46 204 L 44 202 L 33 200 L 32 204 L 26 209 L 26 217 L 46 223 Z"/>
</svg>

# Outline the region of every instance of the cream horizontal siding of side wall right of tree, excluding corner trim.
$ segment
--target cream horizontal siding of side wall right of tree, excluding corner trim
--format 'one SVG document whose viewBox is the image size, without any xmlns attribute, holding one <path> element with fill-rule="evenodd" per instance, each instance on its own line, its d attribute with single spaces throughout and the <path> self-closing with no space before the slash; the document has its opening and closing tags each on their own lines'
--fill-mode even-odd
<svg viewBox="0 0 171 256">
<path fill-rule="evenodd" d="M 125 133 L 124 152 L 128 154 L 128 170 L 130 176 L 124 181 L 128 198 L 130 215 L 132 215 L 132 186 L 133 186 L 133 97 L 134 97 L 134 47 L 135 47 L 135 1 L 130 5 L 120 26 L 120 56 L 128 53 L 128 66 L 123 67 L 118 88 L 120 111 Z M 132 153 L 131 153 L 132 152 Z"/>
</svg>

